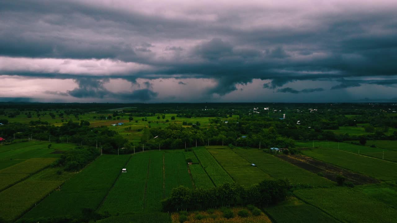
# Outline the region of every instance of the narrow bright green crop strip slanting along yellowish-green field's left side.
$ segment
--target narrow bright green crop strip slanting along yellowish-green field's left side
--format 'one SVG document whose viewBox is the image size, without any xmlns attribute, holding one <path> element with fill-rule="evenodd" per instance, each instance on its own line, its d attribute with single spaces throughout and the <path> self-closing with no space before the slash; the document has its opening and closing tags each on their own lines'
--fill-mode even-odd
<svg viewBox="0 0 397 223">
<path fill-rule="evenodd" d="M 226 171 L 205 148 L 197 147 L 193 149 L 193 152 L 196 154 L 202 167 L 216 186 L 220 186 L 225 182 L 234 182 L 233 179 L 226 173 Z"/>
</svg>

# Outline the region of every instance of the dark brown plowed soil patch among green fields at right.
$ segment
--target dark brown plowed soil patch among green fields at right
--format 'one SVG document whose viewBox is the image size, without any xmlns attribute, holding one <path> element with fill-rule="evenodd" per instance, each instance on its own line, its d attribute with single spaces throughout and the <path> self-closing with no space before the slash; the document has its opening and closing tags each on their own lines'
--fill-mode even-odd
<svg viewBox="0 0 397 223">
<path fill-rule="evenodd" d="M 320 160 L 315 160 L 308 156 L 303 155 L 280 155 L 278 158 L 285 160 L 293 165 L 306 169 L 312 173 L 322 172 L 323 176 L 331 181 L 336 182 L 336 176 L 342 175 L 346 178 L 346 181 L 350 181 L 355 185 L 364 185 L 369 183 L 378 183 L 379 181 L 359 173 L 353 173 L 347 169 L 331 165 Z"/>
</svg>

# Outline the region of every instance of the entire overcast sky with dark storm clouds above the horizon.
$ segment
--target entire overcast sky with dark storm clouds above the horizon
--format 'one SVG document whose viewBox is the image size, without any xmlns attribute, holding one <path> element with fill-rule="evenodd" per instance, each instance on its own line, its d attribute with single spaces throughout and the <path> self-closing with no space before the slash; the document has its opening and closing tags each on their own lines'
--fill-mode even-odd
<svg viewBox="0 0 397 223">
<path fill-rule="evenodd" d="M 0 1 L 0 101 L 397 101 L 396 0 Z"/>
</svg>

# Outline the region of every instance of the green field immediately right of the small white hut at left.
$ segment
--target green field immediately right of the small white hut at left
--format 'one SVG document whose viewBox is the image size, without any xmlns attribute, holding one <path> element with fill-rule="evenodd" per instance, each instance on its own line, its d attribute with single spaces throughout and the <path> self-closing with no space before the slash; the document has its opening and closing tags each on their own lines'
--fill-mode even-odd
<svg viewBox="0 0 397 223">
<path fill-rule="evenodd" d="M 131 156 L 127 173 L 121 173 L 109 191 L 99 211 L 116 213 L 137 213 L 143 211 L 145 186 L 149 165 L 149 153 L 137 153 Z"/>
</svg>

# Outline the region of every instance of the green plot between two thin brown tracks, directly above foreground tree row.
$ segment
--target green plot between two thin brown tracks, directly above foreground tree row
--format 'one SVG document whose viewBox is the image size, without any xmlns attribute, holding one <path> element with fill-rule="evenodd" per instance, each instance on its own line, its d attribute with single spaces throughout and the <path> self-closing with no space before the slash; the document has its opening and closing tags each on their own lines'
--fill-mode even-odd
<svg viewBox="0 0 397 223">
<path fill-rule="evenodd" d="M 179 153 L 164 153 L 165 163 L 165 197 L 169 197 L 171 190 L 177 186 L 183 185 L 192 188 L 193 184 L 185 162 L 185 156 Z"/>
</svg>

